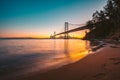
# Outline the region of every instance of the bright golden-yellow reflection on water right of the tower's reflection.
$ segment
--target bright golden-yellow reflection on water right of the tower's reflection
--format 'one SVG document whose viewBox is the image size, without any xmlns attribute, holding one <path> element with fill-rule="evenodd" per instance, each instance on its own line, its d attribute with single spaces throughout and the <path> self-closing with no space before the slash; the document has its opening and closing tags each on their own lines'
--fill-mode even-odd
<svg viewBox="0 0 120 80">
<path fill-rule="evenodd" d="M 66 46 L 68 46 L 68 44 Z M 70 44 L 70 48 L 74 49 L 69 52 L 71 63 L 76 62 L 89 54 L 89 41 L 81 41 L 80 43 L 74 42 L 73 44 Z"/>
</svg>

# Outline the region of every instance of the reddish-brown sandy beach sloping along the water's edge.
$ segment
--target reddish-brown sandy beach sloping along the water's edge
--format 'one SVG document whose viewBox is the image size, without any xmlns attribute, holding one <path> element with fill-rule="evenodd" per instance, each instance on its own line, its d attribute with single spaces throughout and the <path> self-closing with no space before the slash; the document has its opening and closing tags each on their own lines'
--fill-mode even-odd
<svg viewBox="0 0 120 80">
<path fill-rule="evenodd" d="M 42 74 L 39 72 L 36 74 L 30 74 L 27 77 L 19 79 L 120 80 L 120 47 L 106 45 L 106 47 L 102 50 L 92 53 L 76 63 L 69 64 Z"/>
</svg>

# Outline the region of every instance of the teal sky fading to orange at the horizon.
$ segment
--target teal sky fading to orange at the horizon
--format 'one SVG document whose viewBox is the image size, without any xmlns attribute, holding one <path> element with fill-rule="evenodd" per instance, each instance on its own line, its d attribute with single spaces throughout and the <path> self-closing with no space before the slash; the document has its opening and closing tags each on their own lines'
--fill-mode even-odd
<svg viewBox="0 0 120 80">
<path fill-rule="evenodd" d="M 106 0 L 0 0 L 0 37 L 48 37 L 85 24 Z"/>
</svg>

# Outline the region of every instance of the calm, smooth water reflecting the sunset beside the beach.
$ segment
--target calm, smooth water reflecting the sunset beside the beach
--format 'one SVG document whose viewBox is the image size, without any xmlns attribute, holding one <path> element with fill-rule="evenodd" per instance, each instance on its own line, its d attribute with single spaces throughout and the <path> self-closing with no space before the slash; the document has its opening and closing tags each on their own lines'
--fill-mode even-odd
<svg viewBox="0 0 120 80">
<path fill-rule="evenodd" d="M 12 39 L 0 40 L 0 77 L 44 72 L 87 56 L 89 41 Z"/>
</svg>

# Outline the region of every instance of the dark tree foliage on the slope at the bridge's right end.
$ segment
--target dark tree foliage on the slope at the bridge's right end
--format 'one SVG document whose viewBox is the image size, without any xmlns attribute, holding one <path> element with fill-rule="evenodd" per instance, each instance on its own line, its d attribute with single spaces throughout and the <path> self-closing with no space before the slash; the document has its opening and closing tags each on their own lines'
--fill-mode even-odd
<svg viewBox="0 0 120 80">
<path fill-rule="evenodd" d="M 120 31 L 120 0 L 108 0 L 103 10 L 96 11 L 87 22 L 86 38 L 106 38 Z"/>
</svg>

